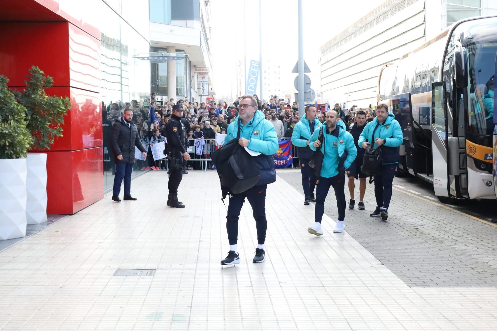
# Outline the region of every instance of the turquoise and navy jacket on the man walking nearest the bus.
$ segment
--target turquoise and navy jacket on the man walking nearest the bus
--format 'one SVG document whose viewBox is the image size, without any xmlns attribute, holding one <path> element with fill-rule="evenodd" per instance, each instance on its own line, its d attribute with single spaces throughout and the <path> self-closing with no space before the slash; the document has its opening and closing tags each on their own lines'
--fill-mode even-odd
<svg viewBox="0 0 497 331">
<path fill-rule="evenodd" d="M 373 131 L 374 137 L 373 141 L 371 141 Z M 374 143 L 376 138 L 385 139 L 385 144 L 380 146 L 382 163 L 384 165 L 399 163 L 399 146 L 404 141 L 404 134 L 402 133 L 401 125 L 395 119 L 394 113 L 388 112 L 387 119 L 382 124 L 378 123 L 378 117 L 366 124 L 357 144 L 359 148 L 363 148 L 362 143 L 368 142 L 373 144 L 374 148 L 377 148 L 378 146 Z"/>
</svg>

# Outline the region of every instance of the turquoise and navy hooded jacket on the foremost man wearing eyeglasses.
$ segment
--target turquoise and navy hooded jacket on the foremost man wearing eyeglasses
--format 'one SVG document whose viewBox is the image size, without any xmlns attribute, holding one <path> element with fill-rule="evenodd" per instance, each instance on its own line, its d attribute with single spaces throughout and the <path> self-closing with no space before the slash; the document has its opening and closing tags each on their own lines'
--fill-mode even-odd
<svg viewBox="0 0 497 331">
<path fill-rule="evenodd" d="M 264 113 L 260 110 L 255 111 L 253 118 L 246 125 L 243 125 L 242 119 L 237 116 L 228 125 L 225 143 L 238 137 L 239 128 L 239 138 L 248 139 L 248 149 L 263 154 L 254 157 L 260 170 L 260 179 L 256 185 L 275 182 L 276 170 L 274 169 L 273 154 L 278 151 L 279 145 L 274 126 L 265 119 Z"/>
</svg>

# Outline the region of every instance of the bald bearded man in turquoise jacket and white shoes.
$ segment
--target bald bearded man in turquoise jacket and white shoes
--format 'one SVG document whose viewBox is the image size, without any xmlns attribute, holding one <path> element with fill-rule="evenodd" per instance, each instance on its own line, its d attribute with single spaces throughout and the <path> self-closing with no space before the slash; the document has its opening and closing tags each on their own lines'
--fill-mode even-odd
<svg viewBox="0 0 497 331">
<path fill-rule="evenodd" d="M 323 235 L 321 220 L 325 212 L 325 199 L 333 187 L 338 207 L 338 221 L 333 230 L 335 233 L 342 232 L 345 228 L 345 169 L 348 168 L 357 156 L 354 137 L 347 132 L 345 123 L 340 120 L 340 114 L 336 110 L 326 113 L 326 126 L 314 131 L 309 146 L 313 151 L 322 153 L 323 162 L 315 163 L 317 177 L 315 224 L 307 229 L 307 232 L 316 236 Z"/>
</svg>

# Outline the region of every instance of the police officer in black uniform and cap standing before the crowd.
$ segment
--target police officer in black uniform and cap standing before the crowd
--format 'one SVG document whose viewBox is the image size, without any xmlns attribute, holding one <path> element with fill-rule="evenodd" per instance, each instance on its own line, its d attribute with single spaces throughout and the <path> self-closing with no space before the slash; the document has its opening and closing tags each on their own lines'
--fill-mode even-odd
<svg viewBox="0 0 497 331">
<path fill-rule="evenodd" d="M 174 208 L 184 208 L 178 201 L 178 186 L 183 178 L 183 159 L 187 161 L 190 155 L 186 153 L 183 142 L 186 140 L 186 129 L 181 121 L 183 106 L 175 104 L 172 106 L 172 116 L 166 125 L 167 160 L 169 162 L 169 196 L 167 205 Z"/>
</svg>

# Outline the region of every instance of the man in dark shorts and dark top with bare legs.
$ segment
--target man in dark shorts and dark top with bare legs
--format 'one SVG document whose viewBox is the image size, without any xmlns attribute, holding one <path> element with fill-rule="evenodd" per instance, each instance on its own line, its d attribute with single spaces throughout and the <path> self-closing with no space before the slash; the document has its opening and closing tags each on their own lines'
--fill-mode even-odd
<svg viewBox="0 0 497 331">
<path fill-rule="evenodd" d="M 362 130 L 364 130 L 364 127 L 366 126 L 366 113 L 364 110 L 359 110 L 356 113 L 355 116 L 355 124 L 352 126 L 350 129 L 350 133 L 352 134 L 352 137 L 354 137 L 354 144 L 355 148 L 357 149 L 357 157 L 355 158 L 354 162 L 352 162 L 352 165 L 348 168 L 347 171 L 347 176 L 348 176 L 348 190 L 350 191 L 350 200 L 348 202 L 348 208 L 349 209 L 354 209 L 355 206 L 355 200 L 354 200 L 354 189 L 355 189 L 355 179 L 359 179 L 359 209 L 364 210 L 366 209 L 364 207 L 364 202 L 362 201 L 364 199 L 364 192 L 366 191 L 366 177 L 367 175 L 362 173 L 361 171 L 361 166 L 362 166 L 362 161 L 364 159 L 364 152 L 365 150 L 363 148 L 359 148 L 359 145 L 357 145 L 357 142 L 359 140 L 359 136 L 362 133 Z"/>
</svg>

